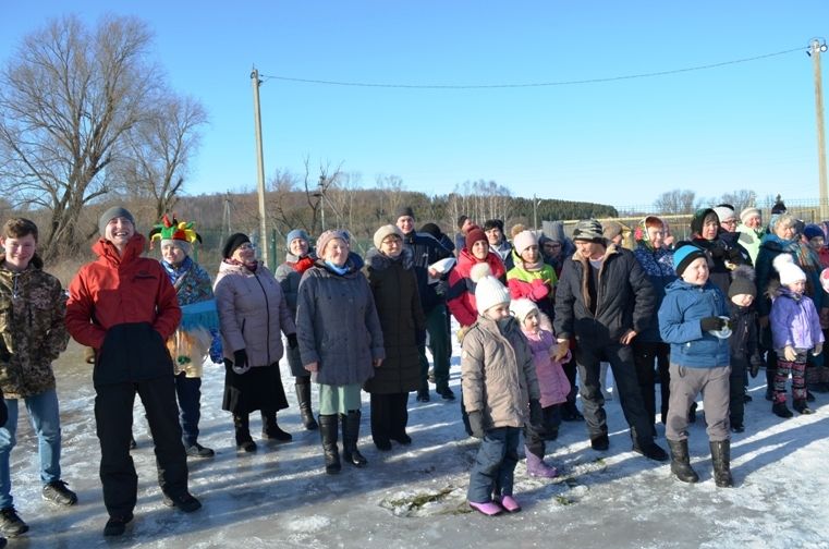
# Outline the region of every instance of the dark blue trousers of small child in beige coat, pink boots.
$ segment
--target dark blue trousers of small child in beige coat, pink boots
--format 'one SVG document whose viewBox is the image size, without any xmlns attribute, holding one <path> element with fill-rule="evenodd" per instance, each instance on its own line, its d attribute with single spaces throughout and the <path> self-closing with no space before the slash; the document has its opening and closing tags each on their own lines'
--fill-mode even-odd
<svg viewBox="0 0 829 549">
<path fill-rule="evenodd" d="M 486 432 L 470 473 L 468 501 L 486 503 L 492 500 L 492 493 L 512 496 L 520 435 L 517 427 L 498 427 Z"/>
</svg>

